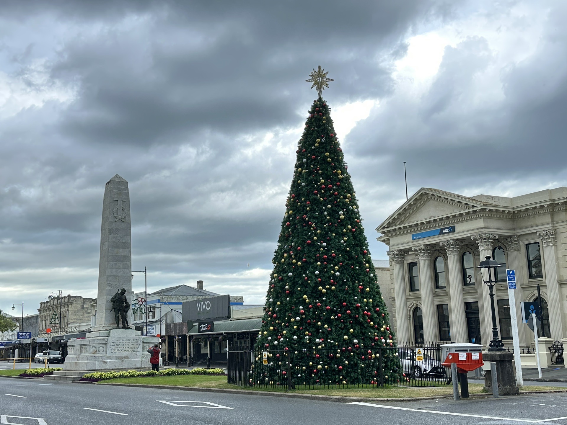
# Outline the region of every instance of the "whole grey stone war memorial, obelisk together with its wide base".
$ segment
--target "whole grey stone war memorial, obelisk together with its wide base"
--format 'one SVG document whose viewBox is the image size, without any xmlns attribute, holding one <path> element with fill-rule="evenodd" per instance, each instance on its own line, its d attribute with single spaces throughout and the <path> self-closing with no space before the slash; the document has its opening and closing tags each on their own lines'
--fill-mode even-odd
<svg viewBox="0 0 567 425">
<path fill-rule="evenodd" d="M 119 314 L 117 308 L 121 293 L 124 294 L 122 300 L 125 305 L 122 307 L 126 315 Z M 142 337 L 141 332 L 130 328 L 131 299 L 130 193 L 128 182 L 116 175 L 104 188 L 96 324 L 86 338 L 67 343 L 63 372 L 150 367 L 150 355 L 146 349 L 159 338 Z M 124 316 L 128 319 L 128 326 L 124 323 Z M 120 326 L 117 326 L 117 317 Z"/>
</svg>

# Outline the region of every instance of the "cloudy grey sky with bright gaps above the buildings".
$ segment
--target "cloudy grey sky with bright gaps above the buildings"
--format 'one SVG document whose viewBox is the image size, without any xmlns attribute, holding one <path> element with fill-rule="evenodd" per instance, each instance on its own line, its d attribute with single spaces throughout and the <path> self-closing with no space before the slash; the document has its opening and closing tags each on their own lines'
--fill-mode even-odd
<svg viewBox="0 0 567 425">
<path fill-rule="evenodd" d="M 410 193 L 567 185 L 566 18 L 562 0 L 2 2 L 0 308 L 96 296 L 116 173 L 151 290 L 262 303 L 318 65 L 374 258 L 404 160 Z"/>
</svg>

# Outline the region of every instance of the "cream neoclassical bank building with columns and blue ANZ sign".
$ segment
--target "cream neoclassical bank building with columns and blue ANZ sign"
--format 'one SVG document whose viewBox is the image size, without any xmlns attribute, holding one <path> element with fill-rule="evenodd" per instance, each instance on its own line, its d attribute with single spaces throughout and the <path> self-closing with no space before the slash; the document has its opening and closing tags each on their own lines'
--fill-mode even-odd
<svg viewBox="0 0 567 425">
<path fill-rule="evenodd" d="M 502 266 L 494 287 L 502 341 L 511 345 L 506 269 L 516 271 L 520 345 L 534 340 L 521 301 L 540 300 L 540 336 L 565 338 L 566 207 L 567 188 L 514 198 L 418 190 L 376 228 L 389 247 L 390 281 L 380 286 L 393 307 L 398 341 L 488 345 L 489 288 L 476 268 L 486 256 Z"/>
</svg>

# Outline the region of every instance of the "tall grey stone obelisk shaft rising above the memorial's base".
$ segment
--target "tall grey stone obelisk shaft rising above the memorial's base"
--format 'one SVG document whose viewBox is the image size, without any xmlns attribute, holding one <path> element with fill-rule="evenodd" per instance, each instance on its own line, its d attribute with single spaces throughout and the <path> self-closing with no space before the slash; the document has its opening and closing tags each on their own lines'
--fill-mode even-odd
<svg viewBox="0 0 567 425">
<path fill-rule="evenodd" d="M 99 291 L 96 324 L 92 329 L 115 329 L 110 302 L 113 295 L 126 290 L 132 295 L 132 236 L 130 232 L 130 193 L 128 182 L 116 175 L 104 188 L 103 220 L 100 227 Z M 132 311 L 128 323 L 132 322 Z"/>
</svg>

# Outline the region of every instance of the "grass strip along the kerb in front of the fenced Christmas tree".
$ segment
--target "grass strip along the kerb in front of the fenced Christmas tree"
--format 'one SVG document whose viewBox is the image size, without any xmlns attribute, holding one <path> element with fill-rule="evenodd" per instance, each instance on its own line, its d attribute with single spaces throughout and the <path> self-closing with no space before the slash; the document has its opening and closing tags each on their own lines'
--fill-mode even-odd
<svg viewBox="0 0 567 425">
<path fill-rule="evenodd" d="M 226 376 L 178 375 L 178 376 L 142 376 L 137 378 L 117 378 L 100 381 L 99 384 L 142 384 L 142 385 L 172 385 L 193 386 L 199 388 L 223 388 L 254 391 L 284 392 L 277 388 L 247 388 L 226 383 Z M 469 393 L 480 394 L 484 392 L 484 385 L 469 384 Z M 557 390 L 554 386 L 524 386 L 522 391 Z M 292 390 L 290 393 L 316 394 L 321 396 L 342 397 L 369 397 L 369 398 L 413 398 L 451 396 L 452 385 L 439 385 L 434 387 L 390 387 L 390 388 L 343 388 L 343 389 L 312 389 Z"/>
</svg>

